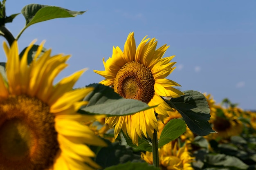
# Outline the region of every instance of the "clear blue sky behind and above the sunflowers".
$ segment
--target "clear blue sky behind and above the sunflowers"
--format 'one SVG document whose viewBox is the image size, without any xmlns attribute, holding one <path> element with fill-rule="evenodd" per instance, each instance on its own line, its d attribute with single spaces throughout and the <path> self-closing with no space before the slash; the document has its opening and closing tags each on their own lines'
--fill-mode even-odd
<svg viewBox="0 0 256 170">
<path fill-rule="evenodd" d="M 182 91 L 211 93 L 217 103 L 227 97 L 256 110 L 254 0 L 7 0 L 6 13 L 19 13 L 30 3 L 88 10 L 75 18 L 34 24 L 20 37 L 20 51 L 37 39 L 38 44 L 46 40 L 53 54 L 72 54 L 57 81 L 85 67 L 89 70 L 76 87 L 101 81 L 93 70 L 104 70 L 102 58 L 112 55 L 112 46 L 123 49 L 134 31 L 137 44 L 148 35 L 157 38 L 158 47 L 170 45 L 164 56 L 176 55 L 177 68 L 168 78 L 181 84 Z M 16 36 L 24 25 L 20 14 L 6 26 Z M 0 60 L 6 60 L 2 49 Z"/>
</svg>

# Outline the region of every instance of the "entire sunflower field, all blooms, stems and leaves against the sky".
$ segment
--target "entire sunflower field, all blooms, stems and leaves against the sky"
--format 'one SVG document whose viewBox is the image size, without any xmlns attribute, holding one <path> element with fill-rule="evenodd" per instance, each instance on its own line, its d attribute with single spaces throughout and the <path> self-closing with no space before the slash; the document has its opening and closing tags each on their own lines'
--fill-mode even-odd
<svg viewBox="0 0 256 170">
<path fill-rule="evenodd" d="M 52 55 L 45 42 L 19 38 L 31 25 L 82 15 L 56 6 L 28 4 L 16 37 L 5 27 L 0 2 L 0 170 L 256 170 L 256 110 L 210 94 L 180 91 L 166 77 L 175 56 L 166 44 L 128 33 L 124 49 L 103 58 L 102 81 L 74 88 L 82 69 L 54 79 L 70 55 Z M 54 48 L 54 47 L 53 47 Z"/>
</svg>

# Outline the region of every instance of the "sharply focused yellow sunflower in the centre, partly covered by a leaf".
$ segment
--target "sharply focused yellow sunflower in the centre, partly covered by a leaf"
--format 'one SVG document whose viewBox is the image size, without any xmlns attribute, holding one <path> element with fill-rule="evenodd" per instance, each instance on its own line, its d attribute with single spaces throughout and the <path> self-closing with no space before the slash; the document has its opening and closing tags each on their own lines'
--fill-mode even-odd
<svg viewBox="0 0 256 170">
<path fill-rule="evenodd" d="M 143 38 L 136 48 L 134 33 L 130 33 L 124 45 L 124 52 L 117 46 L 113 47 L 112 57 L 103 64 L 105 71 L 94 71 L 105 77 L 100 83 L 112 86 L 116 93 L 128 99 L 137 99 L 156 106 L 149 110 L 141 111 L 133 115 L 120 117 L 107 117 L 106 124 L 112 128 L 115 126 L 115 138 L 122 129 L 124 133 L 138 145 L 138 137 L 147 134 L 153 138 L 154 129 L 157 128 L 157 113 L 162 119 L 168 116 L 166 111 L 172 108 L 164 102 L 160 96 L 180 97 L 183 93 L 173 86 L 180 86 L 176 82 L 165 77 L 175 69 L 175 62 L 170 62 L 174 56 L 164 57 L 169 46 L 163 45 L 156 49 L 155 38 Z"/>
</svg>

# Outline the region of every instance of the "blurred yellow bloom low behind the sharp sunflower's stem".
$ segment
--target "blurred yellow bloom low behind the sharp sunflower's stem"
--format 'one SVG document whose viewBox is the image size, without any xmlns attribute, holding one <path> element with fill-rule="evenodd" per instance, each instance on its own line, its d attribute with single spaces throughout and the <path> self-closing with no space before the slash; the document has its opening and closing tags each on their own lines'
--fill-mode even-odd
<svg viewBox="0 0 256 170">
<path fill-rule="evenodd" d="M 173 141 L 159 148 L 158 152 L 161 170 L 194 170 L 191 163 L 195 158 L 191 157 L 186 143 L 180 148 L 177 142 Z M 141 159 L 149 164 L 153 164 L 153 153 L 141 153 Z"/>
</svg>

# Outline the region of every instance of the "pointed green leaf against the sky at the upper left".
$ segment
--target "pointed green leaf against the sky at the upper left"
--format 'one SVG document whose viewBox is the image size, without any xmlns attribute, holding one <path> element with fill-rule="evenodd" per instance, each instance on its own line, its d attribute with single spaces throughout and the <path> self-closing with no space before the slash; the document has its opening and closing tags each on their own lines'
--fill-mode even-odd
<svg viewBox="0 0 256 170">
<path fill-rule="evenodd" d="M 61 7 L 40 4 L 29 4 L 22 8 L 21 13 L 26 19 L 26 27 L 54 18 L 67 18 L 81 15 L 85 11 L 70 11 Z"/>
</svg>

